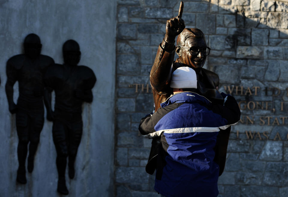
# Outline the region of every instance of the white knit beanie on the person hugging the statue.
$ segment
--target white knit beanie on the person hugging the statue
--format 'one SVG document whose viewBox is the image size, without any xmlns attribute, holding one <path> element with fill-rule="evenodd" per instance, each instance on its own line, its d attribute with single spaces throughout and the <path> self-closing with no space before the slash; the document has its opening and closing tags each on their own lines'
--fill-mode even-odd
<svg viewBox="0 0 288 197">
<path fill-rule="evenodd" d="M 171 76 L 171 88 L 197 88 L 197 76 L 195 70 L 189 67 L 177 68 Z"/>
</svg>

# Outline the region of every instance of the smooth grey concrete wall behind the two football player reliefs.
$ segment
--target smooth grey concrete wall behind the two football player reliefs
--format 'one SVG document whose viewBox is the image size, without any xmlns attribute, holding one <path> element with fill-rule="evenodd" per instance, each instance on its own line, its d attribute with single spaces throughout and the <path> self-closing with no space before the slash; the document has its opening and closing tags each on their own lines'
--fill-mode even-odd
<svg viewBox="0 0 288 197">
<path fill-rule="evenodd" d="M 0 196 L 59 196 L 52 123 L 46 120 L 34 171 L 26 172 L 26 185 L 16 184 L 18 138 L 15 115 L 8 111 L 4 90 L 5 66 L 8 58 L 22 53 L 22 42 L 29 33 L 40 36 L 42 54 L 51 56 L 56 63 L 63 63 L 62 44 L 76 40 L 82 52 L 79 65 L 95 72 L 94 100 L 83 104 L 76 175 L 73 180 L 67 176 L 66 183 L 69 196 L 113 196 L 116 2 L 3 0 L 0 13 Z"/>
</svg>

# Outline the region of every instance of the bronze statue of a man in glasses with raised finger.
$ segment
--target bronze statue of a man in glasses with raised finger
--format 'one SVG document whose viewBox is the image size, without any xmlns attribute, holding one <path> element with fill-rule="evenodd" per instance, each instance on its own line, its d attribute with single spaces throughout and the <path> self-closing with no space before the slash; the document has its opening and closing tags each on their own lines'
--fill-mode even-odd
<svg viewBox="0 0 288 197">
<path fill-rule="evenodd" d="M 173 94 L 170 88 L 171 73 L 179 67 L 190 67 L 197 74 L 197 89 L 201 95 L 212 102 L 223 103 L 223 97 L 217 90 L 219 77 L 216 73 L 202 68 L 205 64 L 210 48 L 206 45 L 205 35 L 200 29 L 185 28 L 184 20 L 181 18 L 183 7 L 179 9 L 179 16 L 171 18 L 166 22 L 166 34 L 158 47 L 156 58 L 150 72 L 150 83 L 153 90 L 155 111 L 160 103 L 167 100 Z M 177 37 L 177 46 L 174 45 Z M 179 56 L 175 62 L 175 52 Z M 219 132 L 217 145 L 214 148 L 214 161 L 219 165 L 219 175 L 224 170 L 226 152 L 228 146 L 230 127 Z M 157 147 L 160 145 L 160 138 L 153 138 L 152 148 L 149 155 L 146 172 L 153 174 L 157 163 Z"/>
</svg>

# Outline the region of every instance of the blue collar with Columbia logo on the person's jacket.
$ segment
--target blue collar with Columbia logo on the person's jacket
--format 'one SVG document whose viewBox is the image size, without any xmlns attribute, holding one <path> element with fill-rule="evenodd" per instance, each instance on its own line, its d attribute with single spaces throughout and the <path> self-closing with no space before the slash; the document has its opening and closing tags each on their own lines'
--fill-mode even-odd
<svg viewBox="0 0 288 197">
<path fill-rule="evenodd" d="M 203 103 L 205 105 L 210 105 L 211 101 L 194 92 L 180 92 L 177 94 L 173 94 L 165 102 L 160 103 L 160 106 L 166 107 L 167 105 L 173 103 Z"/>
</svg>

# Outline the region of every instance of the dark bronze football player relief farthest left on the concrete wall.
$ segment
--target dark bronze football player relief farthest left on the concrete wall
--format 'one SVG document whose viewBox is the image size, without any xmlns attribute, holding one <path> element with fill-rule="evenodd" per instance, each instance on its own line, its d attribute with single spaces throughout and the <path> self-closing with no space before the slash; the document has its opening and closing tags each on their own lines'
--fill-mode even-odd
<svg viewBox="0 0 288 197">
<path fill-rule="evenodd" d="M 40 132 L 44 124 L 43 77 L 48 66 L 54 60 L 41 53 L 41 41 L 38 35 L 29 34 L 24 40 L 25 54 L 15 55 L 7 61 L 7 82 L 5 91 L 9 111 L 16 113 L 16 130 L 19 138 L 17 156 L 19 167 L 17 182 L 25 184 L 25 162 L 29 144 L 28 172 L 34 168 L 34 156 L 38 147 Z M 18 81 L 19 97 L 17 105 L 13 101 L 13 85 Z"/>
</svg>

